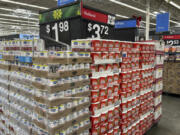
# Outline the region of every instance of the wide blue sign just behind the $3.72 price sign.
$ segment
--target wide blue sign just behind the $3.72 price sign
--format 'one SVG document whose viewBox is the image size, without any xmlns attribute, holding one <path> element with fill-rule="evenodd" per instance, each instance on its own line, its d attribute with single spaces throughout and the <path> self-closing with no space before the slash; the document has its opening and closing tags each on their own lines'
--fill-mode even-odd
<svg viewBox="0 0 180 135">
<path fill-rule="evenodd" d="M 115 28 L 136 28 L 136 20 L 119 20 L 115 22 Z"/>
</svg>

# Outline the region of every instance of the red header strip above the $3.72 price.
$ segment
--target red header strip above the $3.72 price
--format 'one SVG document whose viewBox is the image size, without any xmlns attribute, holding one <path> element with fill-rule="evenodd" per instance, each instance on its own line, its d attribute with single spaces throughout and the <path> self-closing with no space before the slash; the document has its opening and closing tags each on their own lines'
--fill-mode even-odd
<svg viewBox="0 0 180 135">
<path fill-rule="evenodd" d="M 82 18 L 93 20 L 101 23 L 106 23 L 110 25 L 115 24 L 115 16 L 97 12 L 91 9 L 82 8 Z"/>
</svg>

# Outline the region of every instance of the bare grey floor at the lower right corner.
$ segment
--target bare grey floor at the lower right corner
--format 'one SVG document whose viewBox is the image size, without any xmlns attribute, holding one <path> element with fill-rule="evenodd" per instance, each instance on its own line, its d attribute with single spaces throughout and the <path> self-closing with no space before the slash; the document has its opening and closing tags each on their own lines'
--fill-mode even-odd
<svg viewBox="0 0 180 135">
<path fill-rule="evenodd" d="M 163 115 L 147 135 L 180 135 L 180 97 L 163 95 Z"/>
</svg>

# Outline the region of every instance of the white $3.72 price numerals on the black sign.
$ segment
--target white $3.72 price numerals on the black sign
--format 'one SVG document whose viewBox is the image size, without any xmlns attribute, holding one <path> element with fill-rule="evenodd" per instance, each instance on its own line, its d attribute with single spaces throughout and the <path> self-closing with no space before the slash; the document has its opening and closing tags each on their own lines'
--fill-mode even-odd
<svg viewBox="0 0 180 135">
<path fill-rule="evenodd" d="M 91 38 L 102 38 L 109 35 L 109 27 L 102 24 L 88 23 L 87 30 L 90 33 Z"/>
</svg>

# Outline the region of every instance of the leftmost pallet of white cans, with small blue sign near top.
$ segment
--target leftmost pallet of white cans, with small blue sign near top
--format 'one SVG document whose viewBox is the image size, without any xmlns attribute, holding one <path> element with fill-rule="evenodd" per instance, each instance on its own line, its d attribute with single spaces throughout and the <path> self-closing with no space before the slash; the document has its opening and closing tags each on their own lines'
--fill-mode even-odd
<svg viewBox="0 0 180 135">
<path fill-rule="evenodd" d="M 1 134 L 30 135 L 33 127 L 33 96 L 32 78 L 27 70 L 31 70 L 33 48 L 38 50 L 43 47 L 43 41 L 12 40 L 0 44 Z"/>
</svg>

